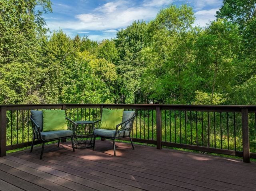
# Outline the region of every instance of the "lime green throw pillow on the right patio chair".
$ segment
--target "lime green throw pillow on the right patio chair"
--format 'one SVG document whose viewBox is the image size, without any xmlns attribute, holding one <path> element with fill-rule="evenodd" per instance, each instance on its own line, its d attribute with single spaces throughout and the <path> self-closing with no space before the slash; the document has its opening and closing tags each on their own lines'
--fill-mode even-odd
<svg viewBox="0 0 256 191">
<path fill-rule="evenodd" d="M 116 130 L 116 125 L 122 122 L 124 109 L 102 109 L 101 128 Z"/>
</svg>

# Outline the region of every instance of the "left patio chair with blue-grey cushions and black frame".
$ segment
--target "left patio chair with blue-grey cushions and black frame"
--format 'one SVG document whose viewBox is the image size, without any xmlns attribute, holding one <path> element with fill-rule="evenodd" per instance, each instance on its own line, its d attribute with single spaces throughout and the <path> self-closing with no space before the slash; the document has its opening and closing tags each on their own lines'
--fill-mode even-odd
<svg viewBox="0 0 256 191">
<path fill-rule="evenodd" d="M 43 152 L 44 152 L 44 144 L 46 142 L 58 140 L 58 147 L 60 146 L 60 140 L 71 138 L 73 152 L 74 149 L 74 134 L 76 131 L 77 124 L 66 117 L 72 125 L 68 127 L 68 130 L 56 130 L 56 131 L 46 131 L 43 132 L 43 112 L 38 110 L 31 110 L 30 120 L 32 122 L 32 129 L 33 129 L 33 140 L 30 152 L 33 150 L 35 139 L 42 141 L 42 149 L 40 154 L 40 159 L 42 159 Z"/>
</svg>

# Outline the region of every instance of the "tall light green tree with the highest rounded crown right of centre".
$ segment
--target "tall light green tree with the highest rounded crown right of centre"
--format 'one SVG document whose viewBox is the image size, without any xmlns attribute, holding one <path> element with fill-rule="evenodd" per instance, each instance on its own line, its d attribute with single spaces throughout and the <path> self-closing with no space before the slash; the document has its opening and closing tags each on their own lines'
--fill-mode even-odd
<svg viewBox="0 0 256 191">
<path fill-rule="evenodd" d="M 186 103 L 187 65 L 196 30 L 194 13 L 186 5 L 163 9 L 148 26 L 149 46 L 142 50 L 147 65 L 144 92 L 160 103 Z M 150 83 L 146 83 L 150 81 Z"/>
</svg>

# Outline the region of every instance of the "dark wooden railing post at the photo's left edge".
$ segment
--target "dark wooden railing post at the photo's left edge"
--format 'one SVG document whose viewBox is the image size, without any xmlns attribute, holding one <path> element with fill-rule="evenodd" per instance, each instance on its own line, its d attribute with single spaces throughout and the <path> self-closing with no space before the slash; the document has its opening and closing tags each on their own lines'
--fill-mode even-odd
<svg viewBox="0 0 256 191">
<path fill-rule="evenodd" d="M 1 106 L 0 125 L 0 157 L 3 157 L 6 156 L 6 106 Z"/>
</svg>

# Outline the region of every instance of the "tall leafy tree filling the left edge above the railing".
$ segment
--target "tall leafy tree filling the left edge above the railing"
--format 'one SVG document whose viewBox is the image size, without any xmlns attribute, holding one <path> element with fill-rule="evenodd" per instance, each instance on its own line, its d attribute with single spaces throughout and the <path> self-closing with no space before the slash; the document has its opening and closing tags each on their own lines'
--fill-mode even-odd
<svg viewBox="0 0 256 191">
<path fill-rule="evenodd" d="M 51 11 L 50 0 L 0 3 L 0 102 L 3 104 L 34 102 L 34 79 L 30 76 L 39 62 L 38 39 L 46 32 L 41 15 L 47 11 Z M 30 98 L 33 100 L 29 101 Z"/>
</svg>

